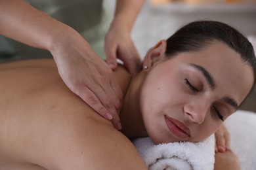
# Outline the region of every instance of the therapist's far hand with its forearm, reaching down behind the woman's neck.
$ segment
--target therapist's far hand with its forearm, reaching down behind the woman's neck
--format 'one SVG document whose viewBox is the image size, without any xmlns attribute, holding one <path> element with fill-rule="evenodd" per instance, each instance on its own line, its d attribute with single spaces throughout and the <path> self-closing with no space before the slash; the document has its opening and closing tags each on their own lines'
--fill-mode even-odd
<svg viewBox="0 0 256 170">
<path fill-rule="evenodd" d="M 114 20 L 105 37 L 106 61 L 112 70 L 117 67 L 117 58 L 131 75 L 140 69 L 141 59 L 131 39 L 131 30 L 143 5 L 144 0 L 116 1 Z"/>
</svg>

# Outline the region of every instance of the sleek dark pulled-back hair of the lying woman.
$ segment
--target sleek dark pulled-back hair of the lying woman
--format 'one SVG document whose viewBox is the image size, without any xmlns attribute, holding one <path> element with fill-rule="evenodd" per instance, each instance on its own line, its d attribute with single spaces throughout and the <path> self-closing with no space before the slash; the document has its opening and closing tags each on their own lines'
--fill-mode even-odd
<svg viewBox="0 0 256 170">
<path fill-rule="evenodd" d="M 248 63 L 253 69 L 255 86 L 256 58 L 253 46 L 239 31 L 227 24 L 215 21 L 197 21 L 181 27 L 175 34 L 167 39 L 165 54 L 172 57 L 180 52 L 195 52 L 203 46 L 211 44 L 213 40 L 221 41 L 240 54 L 242 61 Z"/>
</svg>

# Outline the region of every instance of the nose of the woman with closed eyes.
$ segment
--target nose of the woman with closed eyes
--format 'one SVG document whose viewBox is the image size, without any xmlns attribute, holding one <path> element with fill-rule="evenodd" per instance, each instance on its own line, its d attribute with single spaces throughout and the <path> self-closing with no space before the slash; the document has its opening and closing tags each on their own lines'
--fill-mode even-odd
<svg viewBox="0 0 256 170">
<path fill-rule="evenodd" d="M 209 105 L 203 103 L 190 103 L 184 106 L 184 114 L 191 122 L 202 124 L 209 110 Z"/>
</svg>

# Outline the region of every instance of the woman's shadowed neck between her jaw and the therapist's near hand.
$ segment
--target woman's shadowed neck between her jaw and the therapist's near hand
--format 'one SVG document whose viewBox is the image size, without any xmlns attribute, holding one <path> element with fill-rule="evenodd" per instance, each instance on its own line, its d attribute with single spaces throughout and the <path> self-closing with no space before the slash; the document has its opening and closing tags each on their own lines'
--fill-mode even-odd
<svg viewBox="0 0 256 170">
<path fill-rule="evenodd" d="M 140 72 L 131 78 L 120 112 L 121 132 L 129 138 L 147 136 L 140 112 L 140 89 L 145 74 Z"/>
</svg>

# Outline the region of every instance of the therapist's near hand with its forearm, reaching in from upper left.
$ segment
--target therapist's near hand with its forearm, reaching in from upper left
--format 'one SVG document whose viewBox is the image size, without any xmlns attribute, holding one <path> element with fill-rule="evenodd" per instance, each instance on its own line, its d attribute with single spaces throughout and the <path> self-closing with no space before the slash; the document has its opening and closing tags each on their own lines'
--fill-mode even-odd
<svg viewBox="0 0 256 170">
<path fill-rule="evenodd" d="M 77 31 L 22 0 L 0 1 L 0 25 L 0 35 L 49 50 L 68 88 L 119 129 L 121 89 Z"/>
</svg>

